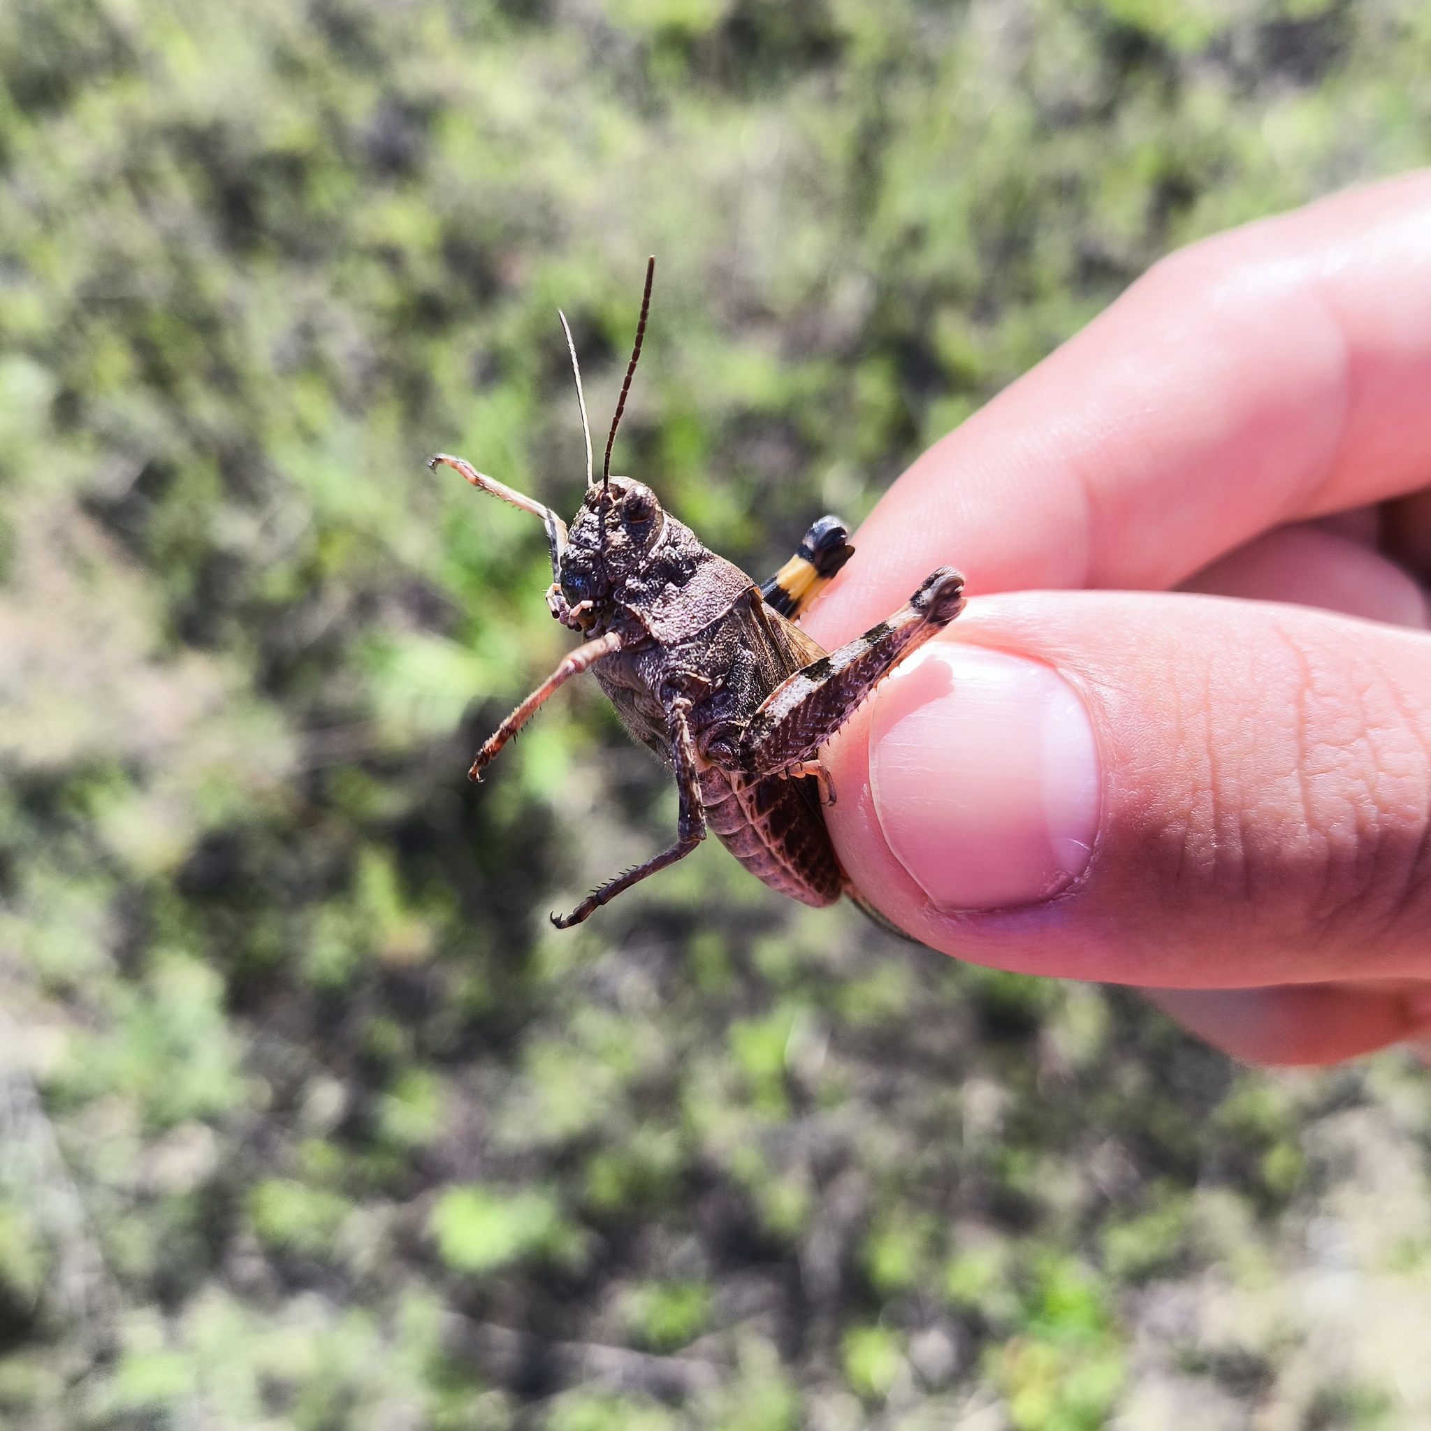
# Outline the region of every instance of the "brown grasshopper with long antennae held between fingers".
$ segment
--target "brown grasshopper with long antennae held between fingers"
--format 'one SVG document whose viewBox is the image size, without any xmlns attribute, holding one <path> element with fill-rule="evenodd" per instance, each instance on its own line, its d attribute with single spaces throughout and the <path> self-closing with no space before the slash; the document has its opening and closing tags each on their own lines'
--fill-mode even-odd
<svg viewBox="0 0 1431 1431">
<path fill-rule="evenodd" d="M 783 894 L 816 906 L 849 894 L 886 924 L 840 869 L 830 843 L 821 804 L 834 804 L 834 788 L 820 746 L 900 657 L 959 615 L 963 577 L 937 568 L 887 621 L 826 653 L 794 621 L 854 551 L 837 518 L 820 518 L 796 555 L 756 585 L 665 512 L 651 488 L 612 477 L 611 445 L 641 356 L 654 276 L 653 258 L 600 482 L 592 477 L 577 348 L 560 315 L 587 441 L 587 495 L 570 531 L 550 508 L 462 458 L 438 454 L 428 461 L 455 468 L 481 491 L 542 519 L 552 574 L 547 605 L 562 625 L 587 637 L 498 726 L 468 774 L 479 780 L 537 707 L 590 670 L 627 730 L 675 771 L 680 817 L 675 844 L 602 884 L 565 917 L 552 914 L 558 929 L 580 924 L 638 880 L 684 859 L 707 829 Z"/>
</svg>

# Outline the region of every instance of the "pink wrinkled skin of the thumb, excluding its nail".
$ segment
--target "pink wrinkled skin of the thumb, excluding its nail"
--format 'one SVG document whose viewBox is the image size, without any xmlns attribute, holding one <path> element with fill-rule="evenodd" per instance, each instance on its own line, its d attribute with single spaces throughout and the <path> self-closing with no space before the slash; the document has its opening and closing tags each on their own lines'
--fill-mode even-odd
<svg viewBox="0 0 1431 1431">
<path fill-rule="evenodd" d="M 824 753 L 827 816 L 856 886 L 917 939 L 1169 989 L 1431 967 L 1431 635 L 1218 597 L 1023 592 L 970 601 L 940 640 L 1043 661 L 1082 695 L 1102 810 L 1058 897 L 932 907 L 874 811 L 877 691 Z"/>
</svg>

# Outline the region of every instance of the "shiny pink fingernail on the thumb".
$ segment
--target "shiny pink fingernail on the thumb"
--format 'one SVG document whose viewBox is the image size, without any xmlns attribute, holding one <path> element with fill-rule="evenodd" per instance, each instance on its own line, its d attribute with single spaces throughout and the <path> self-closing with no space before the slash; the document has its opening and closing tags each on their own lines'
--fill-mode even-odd
<svg viewBox="0 0 1431 1431">
<path fill-rule="evenodd" d="M 936 641 L 877 688 L 870 786 L 884 840 L 946 910 L 1047 899 L 1088 866 L 1093 726 L 1052 667 Z"/>
</svg>

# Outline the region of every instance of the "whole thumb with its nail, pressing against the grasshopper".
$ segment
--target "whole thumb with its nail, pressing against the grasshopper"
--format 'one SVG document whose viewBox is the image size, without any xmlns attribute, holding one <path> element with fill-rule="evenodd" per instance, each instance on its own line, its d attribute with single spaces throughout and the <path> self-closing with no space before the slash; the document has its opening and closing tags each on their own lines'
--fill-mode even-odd
<svg viewBox="0 0 1431 1431">
<path fill-rule="evenodd" d="M 1431 635 L 1145 592 L 970 601 L 826 751 L 844 869 L 936 949 L 1161 989 L 1431 964 Z"/>
</svg>

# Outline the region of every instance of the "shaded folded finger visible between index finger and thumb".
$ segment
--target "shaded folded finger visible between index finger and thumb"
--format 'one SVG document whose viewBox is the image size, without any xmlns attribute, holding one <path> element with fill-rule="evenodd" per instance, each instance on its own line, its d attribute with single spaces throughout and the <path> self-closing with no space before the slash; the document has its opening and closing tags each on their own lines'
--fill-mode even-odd
<svg viewBox="0 0 1431 1431">
<path fill-rule="evenodd" d="M 1189 577 L 1183 591 L 1292 601 L 1369 621 L 1425 627 L 1421 588 L 1395 562 L 1317 527 L 1279 527 Z"/>
</svg>

